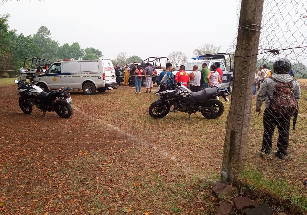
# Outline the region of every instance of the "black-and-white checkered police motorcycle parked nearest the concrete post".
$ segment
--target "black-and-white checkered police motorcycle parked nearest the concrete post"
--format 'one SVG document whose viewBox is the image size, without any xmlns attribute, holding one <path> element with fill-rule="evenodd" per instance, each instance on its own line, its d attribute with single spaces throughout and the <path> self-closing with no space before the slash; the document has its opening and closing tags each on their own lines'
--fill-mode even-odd
<svg viewBox="0 0 307 215">
<path fill-rule="evenodd" d="M 189 113 L 189 119 L 191 114 L 197 111 L 200 111 L 208 119 L 216 119 L 223 114 L 224 105 L 220 100 L 217 100 L 217 96 L 222 96 L 225 101 L 229 101 L 227 88 L 213 87 L 199 92 L 191 92 L 180 83 L 173 84 L 169 80 L 167 84 L 168 79 L 171 77 L 169 78 L 165 74 L 154 94 L 159 96 L 159 99 L 150 105 L 149 115 L 152 118 L 165 117 L 169 113 L 171 105 L 178 111 Z"/>
</svg>

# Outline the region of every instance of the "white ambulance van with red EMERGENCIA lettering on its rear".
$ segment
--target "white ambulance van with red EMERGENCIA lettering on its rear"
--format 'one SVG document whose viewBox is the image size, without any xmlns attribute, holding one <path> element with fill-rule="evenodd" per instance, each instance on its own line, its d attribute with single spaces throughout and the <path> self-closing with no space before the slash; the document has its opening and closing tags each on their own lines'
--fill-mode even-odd
<svg viewBox="0 0 307 215">
<path fill-rule="evenodd" d="M 58 61 L 33 80 L 45 92 L 69 87 L 82 89 L 85 95 L 93 95 L 96 90 L 105 92 L 117 85 L 114 66 L 110 60 L 104 59 Z"/>
</svg>

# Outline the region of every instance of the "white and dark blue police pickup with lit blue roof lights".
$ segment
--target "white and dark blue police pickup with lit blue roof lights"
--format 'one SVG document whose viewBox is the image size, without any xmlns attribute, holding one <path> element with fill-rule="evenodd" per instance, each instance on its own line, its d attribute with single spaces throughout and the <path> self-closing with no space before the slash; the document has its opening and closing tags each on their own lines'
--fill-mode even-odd
<svg viewBox="0 0 307 215">
<path fill-rule="evenodd" d="M 230 59 L 230 69 L 231 69 L 231 54 L 230 53 L 215 53 L 215 54 L 204 54 L 200 55 L 199 57 L 193 57 L 192 60 L 186 61 L 182 63 L 181 65 L 185 66 L 185 71 L 190 74 L 193 70 L 193 66 L 198 66 L 198 71 L 202 69 L 202 65 L 204 63 L 207 64 L 207 67 L 210 68 L 211 65 L 215 64 L 216 62 L 220 62 L 220 68 L 223 70 L 223 75 L 221 75 L 220 79 L 223 81 L 222 84 L 219 84 L 219 87 L 221 88 L 228 88 L 228 91 L 232 92 L 232 83 L 233 83 L 233 74 L 231 71 L 228 71 L 226 68 L 226 56 L 229 56 Z M 224 59 L 224 61 L 221 61 L 220 59 Z M 179 67 L 173 71 L 173 74 L 176 75 L 177 72 L 179 72 Z M 200 82 L 201 88 L 205 88 L 203 77 L 201 77 Z"/>
</svg>

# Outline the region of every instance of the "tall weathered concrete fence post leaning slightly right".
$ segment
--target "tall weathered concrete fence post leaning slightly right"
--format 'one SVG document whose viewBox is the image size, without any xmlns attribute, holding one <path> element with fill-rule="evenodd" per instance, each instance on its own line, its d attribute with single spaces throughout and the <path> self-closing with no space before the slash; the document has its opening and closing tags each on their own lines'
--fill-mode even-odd
<svg viewBox="0 0 307 215">
<path fill-rule="evenodd" d="M 235 182 L 236 173 L 244 165 L 262 10 L 263 0 L 242 0 L 235 50 L 235 76 L 224 144 L 223 182 Z"/>
</svg>

